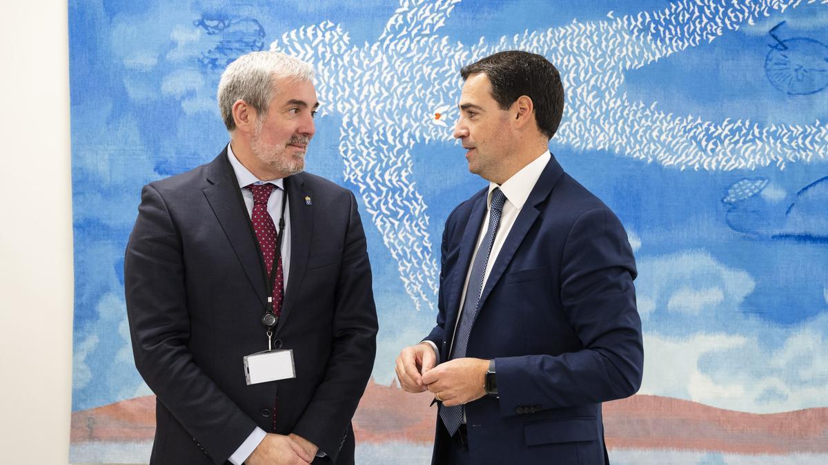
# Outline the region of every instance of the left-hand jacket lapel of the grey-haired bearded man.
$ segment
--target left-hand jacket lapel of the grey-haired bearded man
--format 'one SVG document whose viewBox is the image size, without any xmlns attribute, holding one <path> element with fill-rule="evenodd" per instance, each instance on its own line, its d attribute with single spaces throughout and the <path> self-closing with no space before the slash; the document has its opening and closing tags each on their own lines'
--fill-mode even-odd
<svg viewBox="0 0 828 465">
<path fill-rule="evenodd" d="M 264 295 L 262 262 L 258 258 L 259 251 L 256 243 L 253 242 L 253 234 L 250 232 L 250 218 L 243 205 L 239 204 L 236 183 L 230 178 L 232 175 L 233 167 L 227 159 L 225 148 L 221 155 L 209 164 L 207 171 L 209 185 L 204 189 L 205 197 L 215 217 L 219 220 L 221 228 L 224 229 L 224 234 L 230 246 L 233 247 L 238 261 L 241 262 L 253 289 L 258 295 Z"/>
</svg>

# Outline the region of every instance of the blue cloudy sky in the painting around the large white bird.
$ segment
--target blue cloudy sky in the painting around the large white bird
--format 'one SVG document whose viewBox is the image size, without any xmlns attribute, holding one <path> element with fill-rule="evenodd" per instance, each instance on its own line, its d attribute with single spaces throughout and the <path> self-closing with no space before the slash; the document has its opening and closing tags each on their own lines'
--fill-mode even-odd
<svg viewBox="0 0 828 465">
<path fill-rule="evenodd" d="M 606 21 L 609 11 L 622 17 L 669 4 L 579 3 L 460 2 L 436 34 L 466 45 L 480 36 L 494 42 L 574 20 Z M 218 1 L 70 2 L 73 410 L 148 393 L 132 368 L 123 249 L 142 185 L 212 160 L 227 142 L 214 102 L 226 60 L 243 47 L 267 49 L 284 32 L 324 20 L 341 25 L 352 45 L 371 44 L 395 9 L 380 1 L 334 7 L 321 1 L 233 7 Z M 233 29 L 209 34 L 205 25 L 220 20 L 233 20 Z M 631 103 L 712 122 L 828 121 L 828 90 L 789 95 L 768 80 L 764 63 L 775 43 L 768 31 L 782 21 L 782 41 L 828 43 L 828 8 L 802 5 L 628 70 L 621 90 Z M 341 114 L 319 118 L 307 169 L 355 189 L 344 181 L 339 154 L 344 127 Z M 439 256 L 446 215 L 484 182 L 469 175 L 451 143 L 420 141 L 408 148 Z M 824 161 L 790 163 L 784 170 L 680 170 L 554 140 L 551 149 L 630 234 L 648 351 L 644 392 L 757 412 L 826 405 Z M 427 333 L 434 313 L 416 311 L 381 232 L 361 208 L 381 327 L 374 376 L 388 383 L 393 357 Z"/>
</svg>

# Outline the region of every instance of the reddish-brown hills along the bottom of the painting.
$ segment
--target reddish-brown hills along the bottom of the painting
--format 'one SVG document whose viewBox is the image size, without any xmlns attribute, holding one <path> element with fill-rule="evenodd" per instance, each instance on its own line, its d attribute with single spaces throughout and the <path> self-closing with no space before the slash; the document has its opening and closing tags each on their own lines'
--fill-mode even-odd
<svg viewBox="0 0 828 465">
<path fill-rule="evenodd" d="M 411 395 L 368 382 L 354 415 L 358 441 L 431 443 L 436 407 L 427 392 Z M 679 449 L 748 454 L 828 453 L 828 408 L 749 414 L 689 400 L 634 395 L 604 404 L 609 448 Z M 137 397 L 72 414 L 71 440 L 152 439 L 155 397 Z"/>
</svg>

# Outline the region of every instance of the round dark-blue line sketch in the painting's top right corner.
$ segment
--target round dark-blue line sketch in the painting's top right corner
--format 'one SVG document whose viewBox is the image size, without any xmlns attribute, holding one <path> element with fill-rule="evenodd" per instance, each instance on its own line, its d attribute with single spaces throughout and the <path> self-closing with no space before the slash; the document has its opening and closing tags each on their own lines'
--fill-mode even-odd
<svg viewBox="0 0 828 465">
<path fill-rule="evenodd" d="M 791 95 L 809 95 L 828 86 L 828 47 L 807 37 L 781 41 L 774 32 L 780 22 L 768 33 L 777 41 L 765 59 L 765 72 L 773 87 Z"/>
</svg>

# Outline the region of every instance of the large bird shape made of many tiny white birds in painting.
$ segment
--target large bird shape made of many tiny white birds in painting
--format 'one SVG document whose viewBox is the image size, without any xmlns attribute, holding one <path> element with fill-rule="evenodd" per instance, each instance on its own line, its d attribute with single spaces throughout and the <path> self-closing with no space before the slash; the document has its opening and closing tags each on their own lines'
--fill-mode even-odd
<svg viewBox="0 0 828 465">
<path fill-rule="evenodd" d="M 418 309 L 433 308 L 437 267 L 409 150 L 416 143 L 451 141 L 460 64 L 520 49 L 559 65 L 569 109 L 556 138 L 575 149 L 608 150 L 682 170 L 782 169 L 788 162 L 828 156 L 828 127 L 821 122 L 705 121 L 631 102 L 619 90 L 628 70 L 797 7 L 798 0 L 681 0 L 661 11 L 610 13 L 605 21 L 574 21 L 495 41 L 481 37 L 470 46 L 436 35 L 458 2 L 401 0 L 378 41 L 362 46 L 352 45 L 346 31 L 327 21 L 286 32 L 271 44 L 320 70 L 324 112 L 343 118 L 339 149 L 345 178 L 358 186 Z"/>
</svg>

